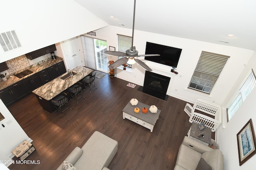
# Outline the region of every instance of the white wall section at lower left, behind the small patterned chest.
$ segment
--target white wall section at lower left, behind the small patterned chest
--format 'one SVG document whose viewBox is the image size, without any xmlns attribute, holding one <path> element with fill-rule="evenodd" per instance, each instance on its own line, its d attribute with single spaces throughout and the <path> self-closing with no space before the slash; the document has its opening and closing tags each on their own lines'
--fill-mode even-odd
<svg viewBox="0 0 256 170">
<path fill-rule="evenodd" d="M 15 147 L 25 139 L 29 142 L 32 142 L 32 140 L 20 127 L 2 100 L 0 100 L 0 112 L 5 117 L 5 119 L 0 121 L 0 160 L 10 160 L 14 156 L 11 151 Z M 2 124 L 5 127 L 2 127 Z"/>
</svg>

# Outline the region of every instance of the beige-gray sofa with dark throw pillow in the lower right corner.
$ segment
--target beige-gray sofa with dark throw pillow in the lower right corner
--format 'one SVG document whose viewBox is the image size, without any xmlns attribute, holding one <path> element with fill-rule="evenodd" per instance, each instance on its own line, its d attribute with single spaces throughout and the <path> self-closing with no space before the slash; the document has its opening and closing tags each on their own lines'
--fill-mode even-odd
<svg viewBox="0 0 256 170">
<path fill-rule="evenodd" d="M 204 160 L 200 160 L 201 158 Z M 180 145 L 174 170 L 196 170 L 197 166 L 200 166 L 199 162 L 201 164 L 202 161 L 211 166 L 212 170 L 223 169 L 223 154 L 220 150 L 212 149 L 185 136 Z"/>
</svg>

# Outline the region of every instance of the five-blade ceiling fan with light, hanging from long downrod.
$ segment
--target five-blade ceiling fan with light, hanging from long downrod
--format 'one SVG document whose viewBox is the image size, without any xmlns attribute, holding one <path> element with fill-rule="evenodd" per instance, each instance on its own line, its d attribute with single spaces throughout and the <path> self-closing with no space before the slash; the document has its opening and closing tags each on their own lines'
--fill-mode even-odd
<svg viewBox="0 0 256 170">
<path fill-rule="evenodd" d="M 114 63 L 110 64 L 108 66 L 108 68 L 110 69 L 114 69 L 124 63 L 128 63 L 128 64 L 134 64 L 134 63 L 138 63 L 140 64 L 140 66 L 142 66 L 143 68 L 145 68 L 148 71 L 152 71 L 152 69 L 147 66 L 144 62 L 140 61 L 139 59 L 137 59 L 136 57 L 142 57 L 142 56 L 146 56 L 146 57 L 152 57 L 152 56 L 160 56 L 158 54 L 145 54 L 145 55 L 138 55 L 138 51 L 136 50 L 135 46 L 133 46 L 133 34 L 134 34 L 134 19 L 135 19 L 135 4 L 136 4 L 136 0 L 134 0 L 134 11 L 133 11 L 133 25 L 132 25 L 132 47 L 128 50 L 126 50 L 125 53 L 123 52 L 119 52 L 119 51 L 105 51 L 105 54 L 109 54 L 109 55 L 114 55 L 114 56 L 118 56 L 118 57 L 123 57 L 122 59 L 119 59 L 117 61 L 115 61 Z"/>
</svg>

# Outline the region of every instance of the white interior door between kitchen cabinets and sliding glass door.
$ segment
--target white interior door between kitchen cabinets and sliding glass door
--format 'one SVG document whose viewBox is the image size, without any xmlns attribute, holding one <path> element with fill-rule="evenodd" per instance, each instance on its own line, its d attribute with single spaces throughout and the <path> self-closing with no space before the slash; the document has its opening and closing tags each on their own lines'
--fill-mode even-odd
<svg viewBox="0 0 256 170">
<path fill-rule="evenodd" d="M 82 59 L 80 55 L 79 39 L 77 37 L 63 41 L 64 53 L 68 68 L 72 70 L 77 66 L 82 66 Z"/>
</svg>

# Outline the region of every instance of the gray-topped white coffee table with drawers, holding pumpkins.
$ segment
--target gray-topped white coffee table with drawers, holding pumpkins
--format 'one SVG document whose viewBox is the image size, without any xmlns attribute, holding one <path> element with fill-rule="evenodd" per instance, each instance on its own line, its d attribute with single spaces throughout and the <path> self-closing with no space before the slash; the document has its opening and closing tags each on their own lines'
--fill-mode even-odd
<svg viewBox="0 0 256 170">
<path fill-rule="evenodd" d="M 134 112 L 134 109 L 136 107 L 140 109 L 139 113 Z M 146 107 L 148 109 L 147 113 L 142 113 L 143 107 Z M 150 132 L 152 132 L 161 110 L 158 109 L 157 113 L 151 113 L 149 111 L 149 107 L 150 106 L 141 102 L 138 102 L 136 106 L 132 106 L 130 102 L 128 102 L 128 104 L 123 109 L 123 119 L 129 119 L 130 121 L 133 121 L 139 125 L 142 125 L 143 127 L 150 129 Z"/>
</svg>

